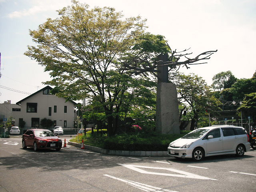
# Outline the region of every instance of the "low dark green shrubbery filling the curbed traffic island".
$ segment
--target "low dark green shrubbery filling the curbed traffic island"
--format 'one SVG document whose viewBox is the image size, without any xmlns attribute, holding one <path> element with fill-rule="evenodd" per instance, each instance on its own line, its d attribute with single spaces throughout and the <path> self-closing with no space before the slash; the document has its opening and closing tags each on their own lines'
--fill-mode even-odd
<svg viewBox="0 0 256 192">
<path fill-rule="evenodd" d="M 78 142 L 84 139 L 84 144 L 96 146 L 108 150 L 127 150 L 127 151 L 166 151 L 170 142 L 189 133 L 188 130 L 182 130 L 180 134 L 157 134 L 156 132 L 138 132 L 136 134 L 119 134 L 108 137 L 107 130 L 86 132 L 85 136 L 79 136 Z M 70 140 L 77 142 L 77 137 Z"/>
</svg>

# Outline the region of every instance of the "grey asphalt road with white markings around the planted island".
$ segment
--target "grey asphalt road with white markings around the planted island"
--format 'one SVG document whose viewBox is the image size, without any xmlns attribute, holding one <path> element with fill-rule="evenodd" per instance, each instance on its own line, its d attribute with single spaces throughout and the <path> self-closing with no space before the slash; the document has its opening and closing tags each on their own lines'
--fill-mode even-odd
<svg viewBox="0 0 256 192">
<path fill-rule="evenodd" d="M 255 192 L 255 180 L 256 150 L 196 163 L 73 146 L 34 152 L 22 149 L 21 138 L 0 138 L 0 192 Z"/>
</svg>

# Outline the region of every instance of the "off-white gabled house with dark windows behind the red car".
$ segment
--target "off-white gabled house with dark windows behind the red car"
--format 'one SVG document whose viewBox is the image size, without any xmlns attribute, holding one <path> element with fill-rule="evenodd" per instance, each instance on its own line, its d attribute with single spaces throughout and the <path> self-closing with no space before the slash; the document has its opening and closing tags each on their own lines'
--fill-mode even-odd
<svg viewBox="0 0 256 192">
<path fill-rule="evenodd" d="M 17 106 L 20 106 L 20 110 L 15 111 L 12 116 L 15 118 L 16 126 L 24 121 L 26 122 L 25 127 L 38 128 L 40 120 L 47 118 L 54 121 L 53 126 L 74 127 L 76 102 L 66 101 L 64 98 L 52 95 L 50 90 L 52 88 L 46 86 L 16 103 Z"/>
</svg>

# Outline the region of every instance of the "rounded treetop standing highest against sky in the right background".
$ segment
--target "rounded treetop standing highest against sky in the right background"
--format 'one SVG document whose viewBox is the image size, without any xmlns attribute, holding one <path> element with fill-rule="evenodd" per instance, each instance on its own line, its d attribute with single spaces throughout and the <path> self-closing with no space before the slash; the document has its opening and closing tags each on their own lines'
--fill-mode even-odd
<svg viewBox="0 0 256 192">
<path fill-rule="evenodd" d="M 231 88 L 232 84 L 234 84 L 236 80 L 237 78 L 231 71 L 220 72 L 213 76 L 212 88 L 220 91 L 226 88 Z"/>
</svg>

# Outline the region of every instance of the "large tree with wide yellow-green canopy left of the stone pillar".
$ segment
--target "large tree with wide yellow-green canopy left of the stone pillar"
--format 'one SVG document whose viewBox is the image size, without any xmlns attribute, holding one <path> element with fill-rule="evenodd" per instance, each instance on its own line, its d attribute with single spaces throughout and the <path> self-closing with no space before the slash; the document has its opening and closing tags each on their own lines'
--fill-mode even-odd
<svg viewBox="0 0 256 192">
<path fill-rule="evenodd" d="M 50 72 L 52 80 L 45 83 L 55 86 L 56 95 L 73 100 L 97 98 L 112 135 L 113 119 L 118 116 L 129 84 L 134 81 L 133 74 L 118 70 L 120 58 L 127 57 L 146 36 L 154 42 L 154 49 L 163 47 L 158 41 L 163 37 L 145 34 L 145 20 L 139 16 L 124 18 L 114 8 L 89 9 L 87 4 L 73 1 L 72 6 L 58 13 L 59 18 L 48 19 L 38 30 L 30 30 L 37 46 L 28 46 L 25 54 Z M 162 50 L 146 50 L 143 54 L 159 54 Z"/>
</svg>

